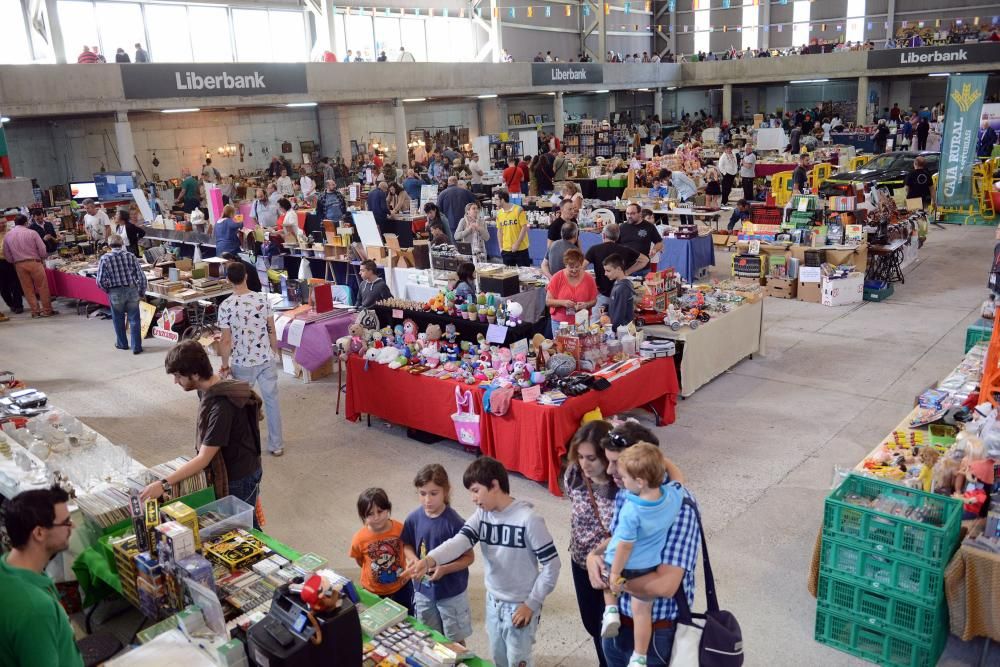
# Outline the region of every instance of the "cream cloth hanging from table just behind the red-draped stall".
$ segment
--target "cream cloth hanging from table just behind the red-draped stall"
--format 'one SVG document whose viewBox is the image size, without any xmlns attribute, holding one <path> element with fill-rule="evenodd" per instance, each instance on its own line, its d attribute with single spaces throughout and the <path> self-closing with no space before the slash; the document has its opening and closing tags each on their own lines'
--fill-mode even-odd
<svg viewBox="0 0 1000 667">
<path fill-rule="evenodd" d="M 687 398 L 743 359 L 767 353 L 764 344 L 764 300 L 744 302 L 728 313 L 714 315 L 694 331 L 673 331 L 657 324 L 642 329 L 647 336 L 679 343 L 681 396 Z"/>
</svg>

